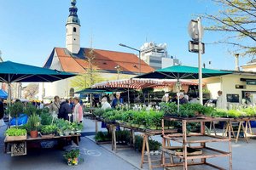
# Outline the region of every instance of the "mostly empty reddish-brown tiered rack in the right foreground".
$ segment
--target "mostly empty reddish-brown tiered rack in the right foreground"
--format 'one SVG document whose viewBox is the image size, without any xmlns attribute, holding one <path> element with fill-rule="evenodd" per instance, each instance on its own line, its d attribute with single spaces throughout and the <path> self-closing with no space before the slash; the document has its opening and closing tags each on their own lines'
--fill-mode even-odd
<svg viewBox="0 0 256 170">
<path fill-rule="evenodd" d="M 181 122 L 183 133 L 166 134 L 165 128 L 164 128 L 165 127 L 164 120 Z M 230 119 L 227 119 L 227 118 L 212 118 L 212 117 L 177 118 L 177 117 L 165 116 L 164 119 L 162 120 L 162 138 L 163 138 L 162 166 L 163 167 L 182 167 L 183 166 L 183 170 L 188 170 L 189 166 L 193 166 L 193 165 L 214 167 L 216 169 L 224 169 L 222 167 L 218 167 L 217 165 L 212 165 L 211 163 L 207 162 L 207 159 L 214 158 L 214 157 L 227 156 L 229 157 L 229 167 L 230 167 L 229 169 L 231 170 L 232 169 L 232 149 L 231 149 L 231 142 L 230 142 L 231 141 L 230 126 L 228 127 L 228 130 L 227 130 L 227 132 L 229 133 L 229 138 L 226 138 L 223 136 L 211 135 L 211 134 L 207 135 L 205 133 L 205 122 L 213 122 L 213 121 L 223 121 L 223 122 L 230 123 Z M 187 123 L 189 122 L 200 122 L 201 132 L 187 133 Z M 167 140 L 175 141 L 177 143 L 182 144 L 183 154 L 174 155 L 170 150 L 172 150 L 173 148 L 177 148 L 177 146 L 166 145 Z M 228 143 L 229 149 L 228 151 L 224 151 L 224 150 L 218 150 L 216 148 L 208 147 L 207 143 L 212 143 L 212 142 Z M 188 155 L 187 149 L 190 146 L 190 144 L 193 144 L 194 148 L 202 150 L 202 154 Z M 195 144 L 197 144 L 197 146 L 195 146 Z M 165 153 L 171 155 L 171 157 L 176 156 L 177 158 L 180 158 L 183 162 L 175 163 L 171 159 L 170 163 L 166 163 Z M 195 160 L 201 160 L 201 161 L 195 161 Z"/>
</svg>

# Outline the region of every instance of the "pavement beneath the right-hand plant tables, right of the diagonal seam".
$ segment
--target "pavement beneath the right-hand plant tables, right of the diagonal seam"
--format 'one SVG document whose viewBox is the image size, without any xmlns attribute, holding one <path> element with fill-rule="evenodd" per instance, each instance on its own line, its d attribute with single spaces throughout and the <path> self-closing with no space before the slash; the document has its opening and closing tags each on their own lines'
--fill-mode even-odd
<svg viewBox="0 0 256 170">
<path fill-rule="evenodd" d="M 89 120 L 86 120 L 85 123 L 86 126 L 90 127 L 90 130 L 95 130 L 95 123 L 91 122 Z M 99 129 L 100 123 L 99 124 Z M 102 129 L 105 130 L 105 129 Z M 253 129 L 254 132 L 256 129 Z M 94 140 L 93 136 L 87 136 L 88 139 Z M 160 136 L 156 136 L 153 139 L 156 139 L 161 142 Z M 175 144 L 175 143 L 174 143 Z M 178 145 L 178 144 L 176 144 Z M 227 143 L 207 143 L 207 146 L 211 146 L 213 148 L 218 148 L 218 150 L 227 150 L 228 144 Z M 104 147 L 106 150 L 109 150 L 110 152 L 113 152 L 111 150 L 111 144 L 102 144 L 102 147 Z M 232 163 L 233 163 L 233 170 L 252 170 L 256 169 L 256 139 L 249 139 L 249 143 L 246 143 L 244 139 L 239 139 L 238 143 L 236 144 L 234 141 L 232 142 Z M 126 149 L 126 150 L 118 150 L 117 153 L 114 153 L 117 156 L 123 158 L 124 160 L 130 162 L 132 165 L 134 165 L 137 168 L 140 168 L 140 161 L 141 161 L 141 153 Z M 154 156 L 156 157 L 156 156 Z M 177 160 L 176 160 L 177 161 Z M 212 158 L 208 159 L 210 163 L 216 164 L 219 167 L 224 167 L 224 169 L 229 169 L 229 159 L 227 157 L 218 157 L 218 158 Z M 143 169 L 148 169 L 148 164 L 143 165 Z M 156 168 L 155 170 L 163 169 L 163 168 Z M 168 168 L 172 170 L 176 169 L 183 169 L 183 168 Z M 190 167 L 189 169 L 202 169 L 202 170 L 210 170 L 212 167 Z"/>
</svg>

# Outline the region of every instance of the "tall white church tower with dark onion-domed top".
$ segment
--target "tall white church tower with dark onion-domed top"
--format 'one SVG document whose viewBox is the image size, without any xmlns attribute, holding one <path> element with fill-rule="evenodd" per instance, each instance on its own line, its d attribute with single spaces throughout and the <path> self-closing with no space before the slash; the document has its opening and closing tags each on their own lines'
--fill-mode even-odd
<svg viewBox="0 0 256 170">
<path fill-rule="evenodd" d="M 71 0 L 66 24 L 66 48 L 72 54 L 78 54 L 80 50 L 80 20 L 76 3 L 76 0 Z"/>
</svg>

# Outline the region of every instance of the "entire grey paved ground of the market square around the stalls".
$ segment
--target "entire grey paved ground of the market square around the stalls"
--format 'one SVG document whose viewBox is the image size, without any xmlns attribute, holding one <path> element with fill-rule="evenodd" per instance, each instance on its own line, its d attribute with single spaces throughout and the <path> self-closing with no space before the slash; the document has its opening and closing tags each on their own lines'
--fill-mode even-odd
<svg viewBox="0 0 256 170">
<path fill-rule="evenodd" d="M 6 127 L 0 127 L 0 150 L 3 150 L 3 132 Z M 98 123 L 100 130 L 101 123 Z M 95 123 L 90 120 L 84 120 L 84 135 L 81 139 L 79 149 L 82 152 L 81 157 L 84 162 L 79 166 L 68 167 L 62 158 L 63 151 L 61 150 L 28 150 L 27 156 L 11 157 L 10 155 L 0 152 L 0 160 L 2 170 L 27 170 L 27 169 L 90 169 L 90 170 L 132 170 L 140 169 L 141 154 L 135 150 L 118 150 L 113 153 L 110 144 L 97 145 L 94 142 L 93 134 L 95 133 Z M 160 137 L 154 139 L 161 140 Z M 207 144 L 217 147 L 218 149 L 226 150 L 227 144 L 212 143 Z M 244 140 L 240 140 L 237 144 L 232 142 L 233 150 L 233 170 L 251 170 L 256 167 L 256 140 L 250 139 L 247 144 Z M 157 157 L 157 156 L 156 156 Z M 212 163 L 218 164 L 225 169 L 228 169 L 227 158 L 214 158 L 209 160 Z M 148 164 L 144 164 L 143 169 L 148 169 Z M 162 168 L 158 168 L 162 169 Z M 156 169 L 156 170 L 158 170 Z M 171 168 L 172 170 L 178 168 Z M 199 168 L 193 168 L 198 170 Z M 211 168 L 201 168 L 211 169 Z"/>
</svg>

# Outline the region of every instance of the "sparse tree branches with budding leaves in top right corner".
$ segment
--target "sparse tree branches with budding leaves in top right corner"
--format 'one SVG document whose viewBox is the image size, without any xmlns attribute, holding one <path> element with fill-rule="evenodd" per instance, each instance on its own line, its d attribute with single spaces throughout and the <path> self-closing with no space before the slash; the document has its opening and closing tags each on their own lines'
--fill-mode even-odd
<svg viewBox="0 0 256 170">
<path fill-rule="evenodd" d="M 217 14 L 204 14 L 212 26 L 207 31 L 224 32 L 218 43 L 229 44 L 234 54 L 256 54 L 256 0 L 211 0 L 221 8 Z"/>
</svg>

